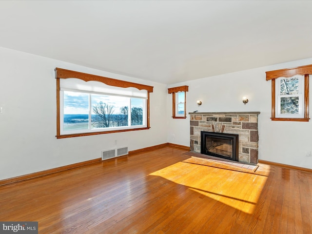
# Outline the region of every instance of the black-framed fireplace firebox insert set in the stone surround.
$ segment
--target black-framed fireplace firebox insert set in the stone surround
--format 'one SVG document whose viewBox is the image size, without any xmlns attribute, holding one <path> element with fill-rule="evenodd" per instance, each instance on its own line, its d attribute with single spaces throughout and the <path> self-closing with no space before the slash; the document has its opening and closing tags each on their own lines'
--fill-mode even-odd
<svg viewBox="0 0 312 234">
<path fill-rule="evenodd" d="M 238 135 L 201 131 L 200 153 L 238 161 Z"/>
</svg>

